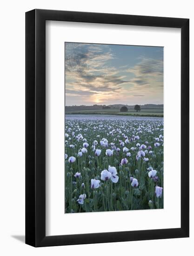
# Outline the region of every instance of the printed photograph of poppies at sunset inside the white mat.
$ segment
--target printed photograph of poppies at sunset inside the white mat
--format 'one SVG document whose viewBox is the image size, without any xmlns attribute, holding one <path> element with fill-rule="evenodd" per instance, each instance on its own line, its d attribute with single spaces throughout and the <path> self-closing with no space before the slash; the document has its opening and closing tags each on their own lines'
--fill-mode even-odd
<svg viewBox="0 0 194 256">
<path fill-rule="evenodd" d="M 65 42 L 65 213 L 163 209 L 163 47 Z"/>
</svg>

